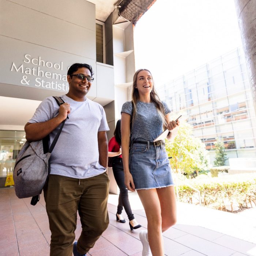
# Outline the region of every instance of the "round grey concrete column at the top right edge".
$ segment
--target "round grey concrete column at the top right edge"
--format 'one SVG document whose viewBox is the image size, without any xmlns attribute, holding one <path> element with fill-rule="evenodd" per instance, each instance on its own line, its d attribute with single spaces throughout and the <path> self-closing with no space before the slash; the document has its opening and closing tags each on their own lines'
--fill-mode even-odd
<svg viewBox="0 0 256 256">
<path fill-rule="evenodd" d="M 234 0 L 256 110 L 256 0 Z"/>
</svg>

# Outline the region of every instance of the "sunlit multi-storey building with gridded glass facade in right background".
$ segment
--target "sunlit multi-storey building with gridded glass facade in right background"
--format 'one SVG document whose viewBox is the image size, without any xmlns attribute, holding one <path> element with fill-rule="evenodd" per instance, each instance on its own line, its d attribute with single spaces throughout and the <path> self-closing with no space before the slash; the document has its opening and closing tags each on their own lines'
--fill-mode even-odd
<svg viewBox="0 0 256 256">
<path fill-rule="evenodd" d="M 206 144 L 211 163 L 217 138 L 223 140 L 228 158 L 256 157 L 256 119 L 250 90 L 240 48 L 158 89 L 174 113 L 187 117 L 194 136 Z"/>
</svg>

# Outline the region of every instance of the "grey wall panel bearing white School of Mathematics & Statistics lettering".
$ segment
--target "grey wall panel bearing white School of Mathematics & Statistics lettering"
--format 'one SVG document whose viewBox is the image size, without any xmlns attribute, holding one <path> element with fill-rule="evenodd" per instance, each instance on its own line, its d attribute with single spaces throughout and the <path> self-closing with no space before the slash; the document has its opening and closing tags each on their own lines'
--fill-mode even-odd
<svg viewBox="0 0 256 256">
<path fill-rule="evenodd" d="M 56 91 L 56 95 L 65 94 L 69 90 L 67 72 L 69 66 L 74 63 L 88 63 L 92 65 L 96 73 L 96 60 L 78 56 L 76 54 L 51 49 L 28 42 L 18 41 L 13 38 L 0 36 L 0 95 L 7 97 L 33 97 L 23 95 L 23 88 L 38 89 L 38 93 L 54 95 L 49 91 Z M 3 84 L 3 87 L 1 87 Z M 10 90 L 8 89 L 10 85 Z M 95 75 L 94 85 L 97 85 Z M 17 88 L 17 91 L 15 87 Z M 2 89 L 3 88 L 3 89 Z M 42 92 L 45 90 L 45 94 Z M 31 91 L 31 93 L 32 93 Z M 88 94 L 89 97 L 97 97 L 97 86 L 93 86 Z M 35 98 L 40 98 L 36 96 Z"/>
</svg>

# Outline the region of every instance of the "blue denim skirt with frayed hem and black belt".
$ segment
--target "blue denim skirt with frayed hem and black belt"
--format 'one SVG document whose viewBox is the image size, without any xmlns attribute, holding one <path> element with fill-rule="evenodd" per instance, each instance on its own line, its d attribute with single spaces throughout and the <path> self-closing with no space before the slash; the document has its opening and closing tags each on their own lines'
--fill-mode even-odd
<svg viewBox="0 0 256 256">
<path fill-rule="evenodd" d="M 134 143 L 129 154 L 129 170 L 135 189 L 174 185 L 165 146 Z"/>
</svg>

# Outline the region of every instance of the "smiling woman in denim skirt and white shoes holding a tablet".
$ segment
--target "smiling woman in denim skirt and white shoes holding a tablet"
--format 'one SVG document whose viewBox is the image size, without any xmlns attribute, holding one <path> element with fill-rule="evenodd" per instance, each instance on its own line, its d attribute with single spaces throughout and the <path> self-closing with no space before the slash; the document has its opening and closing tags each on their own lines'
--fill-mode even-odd
<svg viewBox="0 0 256 256">
<path fill-rule="evenodd" d="M 179 121 L 171 121 L 166 103 L 159 100 L 150 71 L 136 71 L 132 101 L 125 102 L 121 110 L 121 133 L 125 185 L 130 191 L 137 190 L 148 221 L 147 231 L 139 234 L 143 256 L 163 256 L 162 232 L 176 223 L 176 198 L 165 143 L 153 140 L 163 128 L 170 131 L 167 139 L 174 139 L 178 125 Z"/>
</svg>

